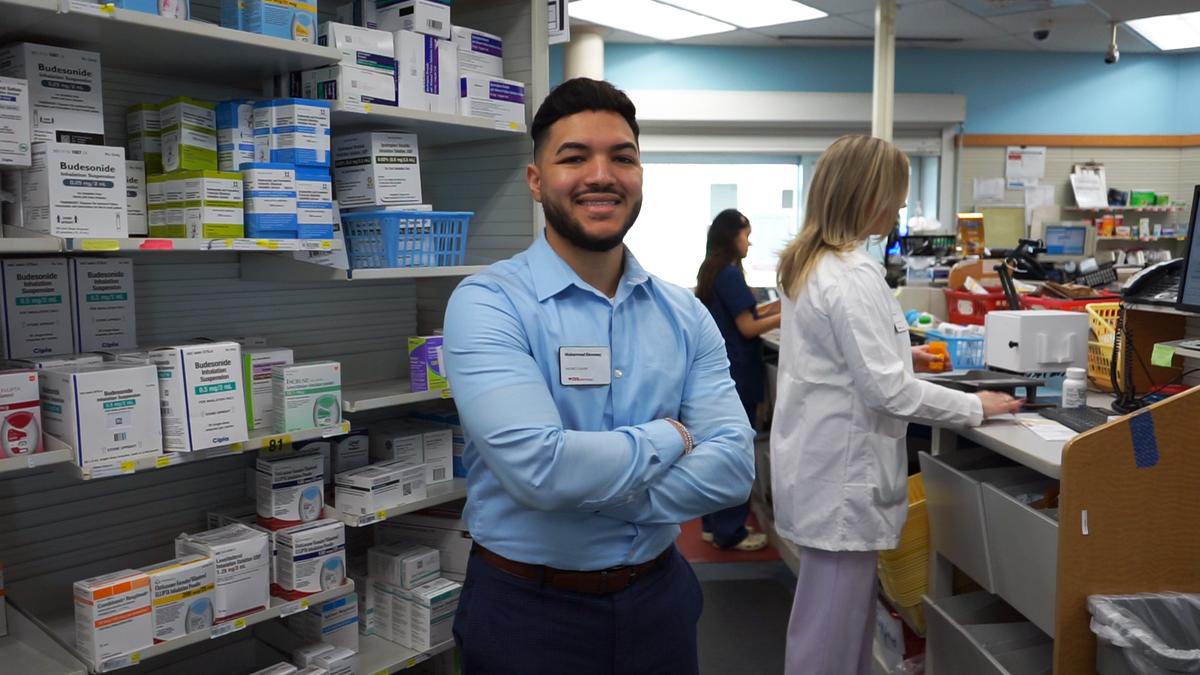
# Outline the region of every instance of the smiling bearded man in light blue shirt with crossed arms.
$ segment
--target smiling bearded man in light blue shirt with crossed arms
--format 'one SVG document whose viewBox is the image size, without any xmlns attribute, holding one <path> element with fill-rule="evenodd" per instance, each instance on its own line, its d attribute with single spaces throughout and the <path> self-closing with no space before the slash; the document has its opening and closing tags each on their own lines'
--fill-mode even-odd
<svg viewBox="0 0 1200 675">
<path fill-rule="evenodd" d="M 475 540 L 463 671 L 697 673 L 703 599 L 673 542 L 745 501 L 754 432 L 708 311 L 622 245 L 642 203 L 634 104 L 572 79 L 530 133 L 550 227 L 445 316 Z"/>
</svg>

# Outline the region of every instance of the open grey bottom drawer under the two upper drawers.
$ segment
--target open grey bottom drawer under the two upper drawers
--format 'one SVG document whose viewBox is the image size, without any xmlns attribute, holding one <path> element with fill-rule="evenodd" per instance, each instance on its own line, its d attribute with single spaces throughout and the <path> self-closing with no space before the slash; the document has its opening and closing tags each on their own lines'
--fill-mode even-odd
<svg viewBox="0 0 1200 675">
<path fill-rule="evenodd" d="M 1050 675 L 1054 641 L 996 596 L 924 601 L 929 675 Z"/>
</svg>

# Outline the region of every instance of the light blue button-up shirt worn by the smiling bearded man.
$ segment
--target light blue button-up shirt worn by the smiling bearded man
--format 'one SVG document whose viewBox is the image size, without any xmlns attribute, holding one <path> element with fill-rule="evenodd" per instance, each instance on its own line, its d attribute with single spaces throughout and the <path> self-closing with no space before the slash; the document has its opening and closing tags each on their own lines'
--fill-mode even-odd
<svg viewBox="0 0 1200 675">
<path fill-rule="evenodd" d="M 679 522 L 746 500 L 754 431 L 716 325 L 625 252 L 610 299 L 541 237 L 463 281 L 444 359 L 467 436 L 467 522 L 499 555 L 635 565 Z M 559 347 L 610 347 L 611 383 L 563 386 Z M 664 418 L 688 426 L 695 449 Z"/>
</svg>

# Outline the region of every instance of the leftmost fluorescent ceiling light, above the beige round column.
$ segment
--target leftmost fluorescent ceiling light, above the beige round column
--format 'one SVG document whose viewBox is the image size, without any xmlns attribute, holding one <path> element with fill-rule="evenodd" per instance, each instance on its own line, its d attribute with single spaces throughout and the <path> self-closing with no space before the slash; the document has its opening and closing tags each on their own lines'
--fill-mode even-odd
<svg viewBox="0 0 1200 675">
<path fill-rule="evenodd" d="M 575 0 L 570 16 L 655 40 L 683 40 L 737 28 L 652 0 Z"/>
</svg>

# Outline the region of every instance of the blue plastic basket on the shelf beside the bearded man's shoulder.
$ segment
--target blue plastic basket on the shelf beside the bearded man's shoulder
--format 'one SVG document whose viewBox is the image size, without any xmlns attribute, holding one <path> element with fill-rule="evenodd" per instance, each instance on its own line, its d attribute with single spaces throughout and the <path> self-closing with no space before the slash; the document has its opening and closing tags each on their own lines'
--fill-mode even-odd
<svg viewBox="0 0 1200 675">
<path fill-rule="evenodd" d="M 461 265 L 470 211 L 342 214 L 350 269 Z"/>
</svg>

